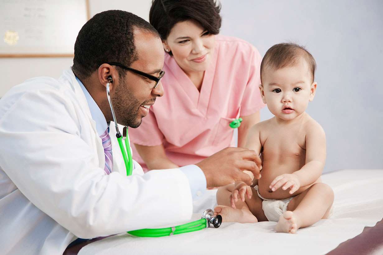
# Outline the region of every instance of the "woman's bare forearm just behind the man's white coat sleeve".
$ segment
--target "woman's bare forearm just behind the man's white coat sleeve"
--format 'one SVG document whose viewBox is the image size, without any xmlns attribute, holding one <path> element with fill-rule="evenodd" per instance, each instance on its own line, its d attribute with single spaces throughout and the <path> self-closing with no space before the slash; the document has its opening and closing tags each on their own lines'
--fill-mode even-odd
<svg viewBox="0 0 383 255">
<path fill-rule="evenodd" d="M 151 169 L 170 169 L 178 168 L 165 154 L 163 145 L 144 146 L 134 144 L 141 158 L 144 160 L 147 168 Z"/>
</svg>

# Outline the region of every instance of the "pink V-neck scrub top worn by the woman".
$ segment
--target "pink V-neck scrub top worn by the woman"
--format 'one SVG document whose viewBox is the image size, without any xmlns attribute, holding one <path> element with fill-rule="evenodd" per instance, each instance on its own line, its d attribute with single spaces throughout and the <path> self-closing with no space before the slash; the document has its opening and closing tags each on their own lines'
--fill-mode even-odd
<svg viewBox="0 0 383 255">
<path fill-rule="evenodd" d="M 216 36 L 210 66 L 200 92 L 165 53 L 162 78 L 164 96 L 157 97 L 138 128 L 129 128 L 131 143 L 163 145 L 178 166 L 195 164 L 229 146 L 235 146 L 229 124 L 258 112 L 265 104 L 259 92 L 260 63 L 257 49 L 234 37 Z M 133 158 L 147 166 L 132 146 Z"/>
</svg>

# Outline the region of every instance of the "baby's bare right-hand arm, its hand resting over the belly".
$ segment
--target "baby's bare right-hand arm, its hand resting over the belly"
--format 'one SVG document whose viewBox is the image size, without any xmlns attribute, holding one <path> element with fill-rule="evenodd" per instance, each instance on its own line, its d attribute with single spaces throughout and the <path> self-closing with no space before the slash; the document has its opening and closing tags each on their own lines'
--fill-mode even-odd
<svg viewBox="0 0 383 255">
<path fill-rule="evenodd" d="M 300 187 L 313 184 L 321 176 L 326 161 L 326 135 L 321 125 L 315 121 L 306 125 L 306 162 L 304 166 L 293 174 L 277 176 L 270 188 L 272 191 L 282 187 L 283 190 L 290 188 L 290 194 Z"/>
</svg>

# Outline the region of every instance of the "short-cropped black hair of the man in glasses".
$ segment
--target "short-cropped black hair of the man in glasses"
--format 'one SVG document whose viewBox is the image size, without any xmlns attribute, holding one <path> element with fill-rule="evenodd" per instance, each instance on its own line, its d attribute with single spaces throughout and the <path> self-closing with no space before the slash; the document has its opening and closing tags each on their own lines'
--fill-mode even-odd
<svg viewBox="0 0 383 255">
<path fill-rule="evenodd" d="M 75 75 L 89 77 L 99 65 L 118 62 L 129 66 L 138 59 L 134 45 L 134 29 L 144 29 L 160 37 L 154 27 L 133 13 L 119 10 L 103 11 L 89 19 L 81 28 L 74 45 Z M 116 67 L 119 76 L 126 72 Z"/>
</svg>

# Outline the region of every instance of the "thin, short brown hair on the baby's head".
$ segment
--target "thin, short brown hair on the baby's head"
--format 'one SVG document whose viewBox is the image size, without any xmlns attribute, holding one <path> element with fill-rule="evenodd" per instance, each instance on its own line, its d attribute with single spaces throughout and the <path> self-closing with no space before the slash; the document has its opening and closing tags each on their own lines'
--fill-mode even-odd
<svg viewBox="0 0 383 255">
<path fill-rule="evenodd" d="M 298 63 L 303 58 L 308 66 L 311 76 L 314 81 L 316 62 L 313 55 L 308 52 L 303 46 L 295 43 L 281 43 L 275 44 L 267 50 L 264 58 L 261 62 L 261 83 L 262 74 L 264 69 L 271 68 L 272 70 L 278 70 L 285 67 L 291 67 Z"/>
</svg>

